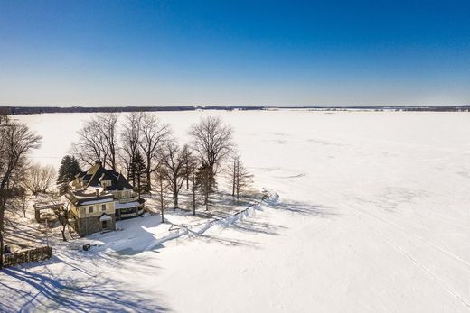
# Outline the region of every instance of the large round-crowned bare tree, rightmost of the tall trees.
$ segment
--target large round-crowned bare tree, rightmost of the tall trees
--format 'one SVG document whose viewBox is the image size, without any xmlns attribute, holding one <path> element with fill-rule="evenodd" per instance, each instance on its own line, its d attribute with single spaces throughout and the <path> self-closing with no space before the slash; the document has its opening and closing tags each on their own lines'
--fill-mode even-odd
<svg viewBox="0 0 470 313">
<path fill-rule="evenodd" d="M 232 130 L 223 124 L 220 117 L 207 116 L 198 124 L 193 124 L 189 134 L 193 137 L 193 148 L 198 152 L 201 162 L 211 169 L 213 186 L 221 161 L 232 150 Z"/>
</svg>

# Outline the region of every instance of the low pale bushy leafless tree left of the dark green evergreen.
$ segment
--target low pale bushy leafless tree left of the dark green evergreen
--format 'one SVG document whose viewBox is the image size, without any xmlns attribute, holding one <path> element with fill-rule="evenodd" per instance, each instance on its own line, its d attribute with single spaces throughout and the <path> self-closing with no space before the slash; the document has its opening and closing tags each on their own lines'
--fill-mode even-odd
<svg viewBox="0 0 470 313">
<path fill-rule="evenodd" d="M 33 195 L 47 193 L 55 184 L 57 172 L 52 165 L 34 163 L 27 170 L 26 187 Z"/>
</svg>

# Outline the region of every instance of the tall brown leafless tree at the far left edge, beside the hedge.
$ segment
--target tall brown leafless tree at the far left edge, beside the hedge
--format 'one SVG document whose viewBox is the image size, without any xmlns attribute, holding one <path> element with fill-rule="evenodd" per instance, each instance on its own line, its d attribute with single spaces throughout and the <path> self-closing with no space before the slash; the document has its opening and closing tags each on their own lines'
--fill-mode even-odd
<svg viewBox="0 0 470 313">
<path fill-rule="evenodd" d="M 24 180 L 22 172 L 28 152 L 39 148 L 41 140 L 25 124 L 8 121 L 0 125 L 0 268 L 3 267 L 5 209 Z"/>
</svg>

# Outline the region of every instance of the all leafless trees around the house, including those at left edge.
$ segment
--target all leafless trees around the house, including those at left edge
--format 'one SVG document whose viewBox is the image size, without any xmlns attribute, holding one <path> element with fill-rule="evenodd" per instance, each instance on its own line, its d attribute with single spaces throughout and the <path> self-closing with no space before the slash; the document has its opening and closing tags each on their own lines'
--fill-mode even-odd
<svg viewBox="0 0 470 313">
<path fill-rule="evenodd" d="M 180 145 L 171 136 L 168 124 L 155 115 L 133 112 L 118 125 L 117 113 L 95 115 L 78 132 L 79 139 L 72 145 L 73 155 L 61 161 L 59 174 L 52 167 L 33 163 L 28 153 L 39 148 L 42 137 L 25 124 L 15 123 L 2 115 L 0 120 L 0 268 L 3 266 L 5 211 L 21 208 L 25 216 L 25 190 L 33 194 L 48 192 L 54 180 L 59 195 L 69 191 L 69 183 L 80 173 L 81 165 L 100 161 L 108 169 L 126 170 L 135 190 L 156 191 L 158 207 L 164 222 L 164 209 L 179 206 L 180 192 L 185 186 L 192 202 L 193 215 L 197 200 L 203 198 L 209 209 L 211 195 L 217 189 L 221 169 L 229 164 L 232 196 L 240 193 L 251 181 L 251 175 L 234 154 L 232 129 L 220 117 L 204 117 L 190 127 L 190 144 Z M 118 127 L 120 126 L 120 127 Z M 119 131 L 118 131 L 119 130 Z M 66 241 L 68 208 L 54 210 L 61 225 L 62 239 Z"/>
</svg>

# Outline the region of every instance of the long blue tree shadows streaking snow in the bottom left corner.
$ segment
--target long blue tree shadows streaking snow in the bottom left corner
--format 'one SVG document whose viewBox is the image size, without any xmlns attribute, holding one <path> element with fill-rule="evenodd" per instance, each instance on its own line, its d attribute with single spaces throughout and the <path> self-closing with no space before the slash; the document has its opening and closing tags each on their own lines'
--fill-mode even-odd
<svg viewBox="0 0 470 313">
<path fill-rule="evenodd" d="M 101 281 L 83 285 L 79 281 L 60 277 L 50 277 L 40 273 L 8 268 L 2 272 L 14 281 L 21 281 L 33 288 L 22 290 L 14 288 L 12 281 L 0 281 L 0 285 L 25 299 L 22 308 L 12 308 L 7 301 L 0 302 L 2 312 L 23 312 L 33 308 L 44 311 L 61 310 L 73 312 L 164 312 L 169 308 L 145 299 L 136 291 L 121 291 L 122 284 Z M 9 283 L 10 282 L 10 283 Z M 17 284 L 17 282 L 15 283 Z"/>
</svg>

